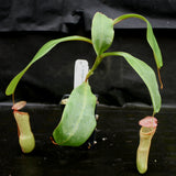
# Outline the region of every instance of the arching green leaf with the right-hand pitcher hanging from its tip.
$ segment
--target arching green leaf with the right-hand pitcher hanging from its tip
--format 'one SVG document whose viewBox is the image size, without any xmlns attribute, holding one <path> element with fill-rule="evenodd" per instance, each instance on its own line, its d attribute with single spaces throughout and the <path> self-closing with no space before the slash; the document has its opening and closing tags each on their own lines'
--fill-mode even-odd
<svg viewBox="0 0 176 176">
<path fill-rule="evenodd" d="M 157 80 L 154 70 L 141 59 L 130 55 L 124 52 L 112 52 L 105 53 L 102 57 L 106 56 L 122 56 L 131 65 L 131 67 L 139 74 L 139 76 L 145 82 L 153 103 L 154 113 L 158 112 L 161 109 L 161 95 L 158 91 Z"/>
</svg>

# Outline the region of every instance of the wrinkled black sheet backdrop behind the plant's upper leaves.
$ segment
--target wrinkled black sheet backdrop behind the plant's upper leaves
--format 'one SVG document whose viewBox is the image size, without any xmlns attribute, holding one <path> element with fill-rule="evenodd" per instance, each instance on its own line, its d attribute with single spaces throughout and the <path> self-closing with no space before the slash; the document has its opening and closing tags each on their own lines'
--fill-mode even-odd
<svg viewBox="0 0 176 176">
<path fill-rule="evenodd" d="M 140 13 L 148 19 L 162 50 L 161 70 L 163 105 L 174 106 L 176 98 L 176 2 L 173 0 L 7 0 L 0 1 L 0 101 L 10 80 L 32 59 L 47 41 L 68 35 L 91 37 L 91 20 L 100 11 L 109 18 Z M 146 24 L 130 19 L 114 26 L 110 51 L 123 51 L 146 62 L 155 69 L 153 53 L 146 42 Z M 94 64 L 96 54 L 82 42 L 63 43 L 34 64 L 20 81 L 15 98 L 31 102 L 58 103 L 73 89 L 76 59 Z M 156 69 L 155 69 L 156 72 Z M 123 58 L 105 59 L 90 77 L 92 91 L 100 103 L 124 106 L 151 105 L 148 91 Z"/>
</svg>

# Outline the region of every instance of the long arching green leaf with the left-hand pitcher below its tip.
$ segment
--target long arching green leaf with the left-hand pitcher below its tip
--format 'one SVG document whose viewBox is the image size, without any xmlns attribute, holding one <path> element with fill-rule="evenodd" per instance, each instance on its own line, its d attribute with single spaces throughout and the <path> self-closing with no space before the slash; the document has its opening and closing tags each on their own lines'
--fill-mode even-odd
<svg viewBox="0 0 176 176">
<path fill-rule="evenodd" d="M 7 90 L 6 90 L 6 95 L 10 96 L 10 95 L 12 95 L 14 92 L 20 79 L 25 74 L 25 72 L 31 67 L 31 65 L 33 65 L 36 61 L 42 58 L 45 54 L 47 54 L 58 43 L 67 42 L 67 41 L 84 41 L 84 42 L 88 42 L 88 43 L 91 44 L 91 40 L 89 40 L 87 37 L 82 37 L 82 36 L 76 36 L 76 35 L 62 37 L 62 38 L 57 38 L 57 40 L 52 40 L 52 41 L 47 42 L 46 44 L 44 44 L 40 48 L 40 51 L 35 54 L 35 56 L 29 63 L 29 65 L 11 80 L 11 82 L 9 84 L 9 86 L 8 86 Z"/>
</svg>

